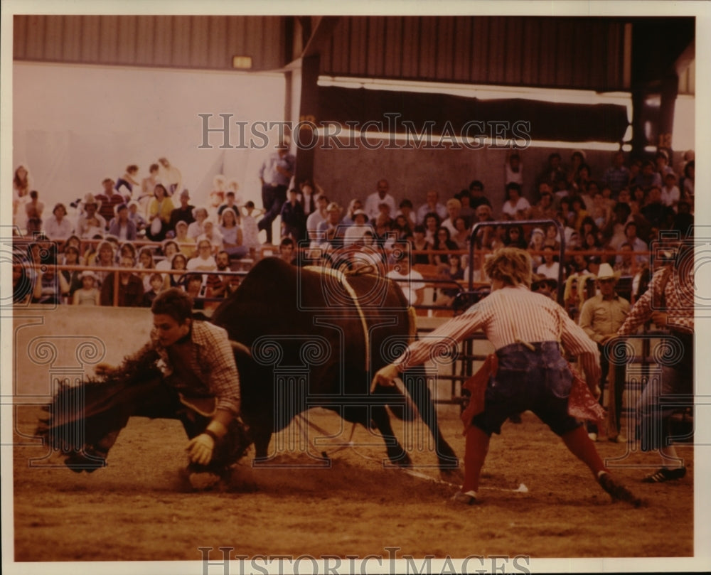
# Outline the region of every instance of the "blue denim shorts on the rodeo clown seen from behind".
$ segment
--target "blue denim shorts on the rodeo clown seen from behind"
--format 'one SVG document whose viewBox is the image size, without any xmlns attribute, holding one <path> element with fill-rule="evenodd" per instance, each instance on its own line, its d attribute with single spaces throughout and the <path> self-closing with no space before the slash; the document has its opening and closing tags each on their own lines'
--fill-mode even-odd
<svg viewBox="0 0 711 575">
<path fill-rule="evenodd" d="M 555 341 L 506 345 L 496 352 L 498 372 L 486 388 L 484 411 L 471 423 L 484 433 L 501 433 L 508 417 L 530 410 L 557 435 L 580 424 L 568 415 L 572 373 Z"/>
</svg>

